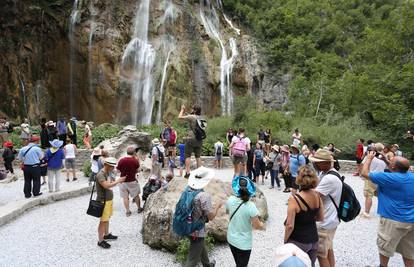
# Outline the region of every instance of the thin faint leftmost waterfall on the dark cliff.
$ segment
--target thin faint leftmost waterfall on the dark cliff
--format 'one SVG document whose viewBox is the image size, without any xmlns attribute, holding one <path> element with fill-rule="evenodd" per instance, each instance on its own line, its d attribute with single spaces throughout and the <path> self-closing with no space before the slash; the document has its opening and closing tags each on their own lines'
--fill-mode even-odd
<svg viewBox="0 0 414 267">
<path fill-rule="evenodd" d="M 79 0 L 75 0 L 72 6 L 72 12 L 70 13 L 69 19 L 69 45 L 70 45 L 70 54 L 69 54 L 69 112 L 70 115 L 74 115 L 73 112 L 73 67 L 75 60 L 75 26 L 78 21 L 79 15 Z"/>
</svg>

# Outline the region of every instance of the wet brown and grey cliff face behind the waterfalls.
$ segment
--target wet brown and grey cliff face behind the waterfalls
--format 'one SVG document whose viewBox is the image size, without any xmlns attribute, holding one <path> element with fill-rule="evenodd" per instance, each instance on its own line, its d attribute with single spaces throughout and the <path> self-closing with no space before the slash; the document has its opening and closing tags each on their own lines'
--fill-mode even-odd
<svg viewBox="0 0 414 267">
<path fill-rule="evenodd" d="M 142 1 L 78 0 L 71 24 L 74 2 L 2 2 L 0 114 L 14 119 L 75 115 L 97 123 L 131 122 L 133 94 L 121 63 Z M 231 75 L 234 94 L 252 93 L 261 104 L 279 107 L 284 102 L 285 79 L 266 74 L 269 70 L 254 39 L 243 31 L 238 35 L 223 11 L 215 8 L 227 58 L 232 55 L 230 38 L 237 43 Z M 223 51 L 217 38 L 208 34 L 198 1 L 152 0 L 148 41 L 155 50 L 151 121 L 157 120 L 160 100 L 161 119 L 173 118 L 181 104 L 195 102 L 208 116 L 220 115 Z"/>
</svg>

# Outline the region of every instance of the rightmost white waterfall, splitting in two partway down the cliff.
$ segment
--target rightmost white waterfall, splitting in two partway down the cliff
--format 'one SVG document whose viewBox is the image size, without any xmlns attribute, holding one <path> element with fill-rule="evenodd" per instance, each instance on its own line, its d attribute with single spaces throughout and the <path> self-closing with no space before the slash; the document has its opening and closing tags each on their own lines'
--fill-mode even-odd
<svg viewBox="0 0 414 267">
<path fill-rule="evenodd" d="M 207 5 L 205 5 L 205 2 Z M 230 48 L 232 55 L 227 58 L 227 50 L 224 41 L 220 36 L 220 20 L 214 6 L 209 0 L 200 0 L 200 17 L 201 22 L 209 36 L 216 39 L 221 48 L 220 60 L 220 96 L 221 96 L 221 114 L 230 115 L 233 108 L 233 91 L 231 89 L 231 72 L 233 70 L 234 59 L 238 55 L 236 40 L 231 38 Z"/>
</svg>

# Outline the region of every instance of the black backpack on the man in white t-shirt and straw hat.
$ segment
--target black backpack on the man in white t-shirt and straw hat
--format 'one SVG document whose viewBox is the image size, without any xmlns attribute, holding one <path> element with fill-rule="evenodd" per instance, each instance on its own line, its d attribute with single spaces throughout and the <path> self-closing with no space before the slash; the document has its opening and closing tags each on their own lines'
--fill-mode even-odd
<svg viewBox="0 0 414 267">
<path fill-rule="evenodd" d="M 349 222 L 355 219 L 360 211 L 361 211 L 361 205 L 359 204 L 359 201 L 357 197 L 355 196 L 355 192 L 348 184 L 344 182 L 345 177 L 340 176 L 339 173 L 335 171 L 329 171 L 327 174 L 333 174 L 336 177 L 338 177 L 342 182 L 342 193 L 341 193 L 341 200 L 339 202 L 339 206 L 336 205 L 334 199 L 331 195 L 329 195 L 329 198 L 334 203 L 336 211 L 338 212 L 338 219 L 339 221 Z"/>
</svg>

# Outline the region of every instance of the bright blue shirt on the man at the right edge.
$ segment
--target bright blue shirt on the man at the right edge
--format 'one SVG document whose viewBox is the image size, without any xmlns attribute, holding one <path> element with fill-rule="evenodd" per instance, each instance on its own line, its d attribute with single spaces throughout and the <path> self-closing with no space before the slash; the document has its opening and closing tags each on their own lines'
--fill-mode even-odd
<svg viewBox="0 0 414 267">
<path fill-rule="evenodd" d="M 378 214 L 414 223 L 414 173 L 370 172 L 369 178 L 378 185 Z"/>
</svg>

